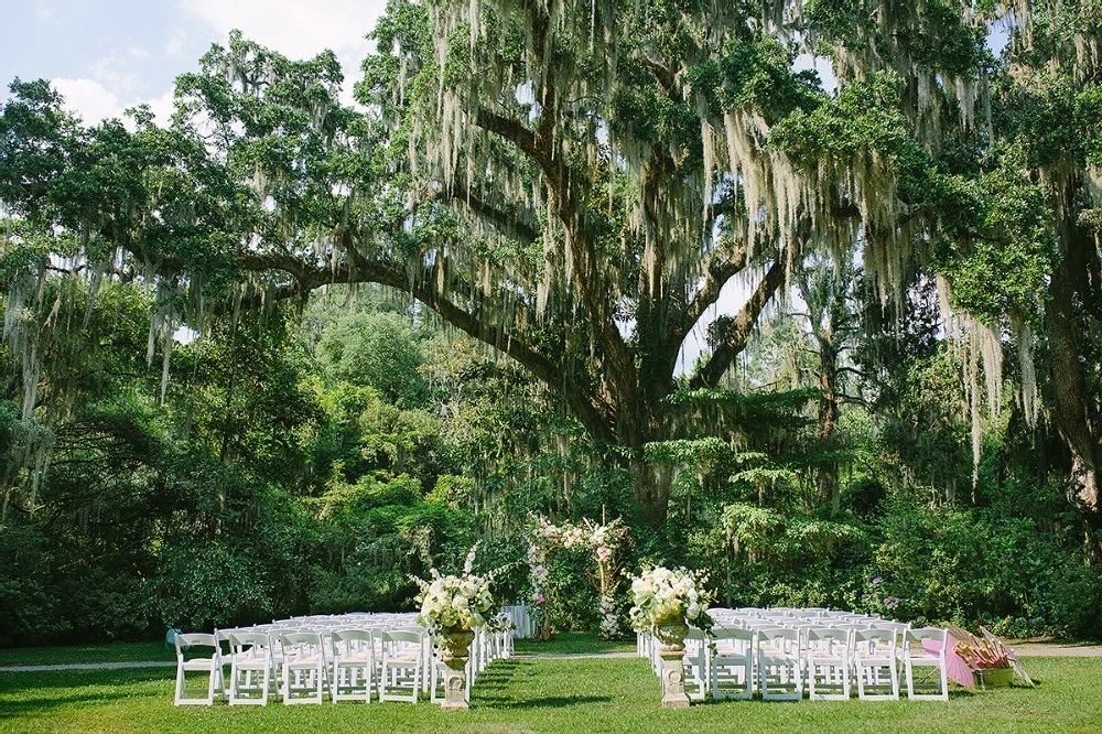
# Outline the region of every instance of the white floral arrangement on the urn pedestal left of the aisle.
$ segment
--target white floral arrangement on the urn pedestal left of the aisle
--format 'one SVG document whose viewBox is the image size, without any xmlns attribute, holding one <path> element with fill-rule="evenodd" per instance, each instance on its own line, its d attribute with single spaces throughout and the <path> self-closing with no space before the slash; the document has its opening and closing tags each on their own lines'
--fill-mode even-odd
<svg viewBox="0 0 1102 734">
<path fill-rule="evenodd" d="M 415 579 L 421 587 L 417 601 L 421 604 L 418 624 L 426 628 L 436 639 L 449 632 L 471 630 L 486 624 L 486 615 L 494 608 L 494 597 L 489 593 L 493 573 L 477 575 L 473 572 L 475 548 L 467 553 L 461 575 L 442 575 L 431 570 L 431 581 Z"/>
</svg>

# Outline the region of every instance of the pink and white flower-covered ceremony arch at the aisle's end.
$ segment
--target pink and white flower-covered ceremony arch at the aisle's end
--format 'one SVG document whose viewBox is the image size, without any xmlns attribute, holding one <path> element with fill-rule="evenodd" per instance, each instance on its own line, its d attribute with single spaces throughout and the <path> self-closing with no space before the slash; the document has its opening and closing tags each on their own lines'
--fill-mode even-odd
<svg viewBox="0 0 1102 734">
<path fill-rule="evenodd" d="M 616 607 L 616 550 L 624 542 L 627 529 L 616 519 L 607 525 L 597 525 L 585 519 L 580 525 L 557 526 L 544 517 L 534 518 L 531 530 L 531 547 L 528 549 L 529 582 L 531 591 L 532 622 L 537 629 L 547 619 L 547 585 L 550 555 L 555 550 L 588 548 L 597 561 L 595 581 L 601 594 L 601 635 L 620 635 L 619 615 Z"/>
</svg>

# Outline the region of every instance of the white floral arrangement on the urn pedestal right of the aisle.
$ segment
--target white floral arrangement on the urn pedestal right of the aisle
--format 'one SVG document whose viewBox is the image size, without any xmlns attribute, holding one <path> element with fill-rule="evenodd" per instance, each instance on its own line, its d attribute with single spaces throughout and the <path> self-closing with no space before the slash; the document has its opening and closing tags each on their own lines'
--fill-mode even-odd
<svg viewBox="0 0 1102 734">
<path fill-rule="evenodd" d="M 631 580 L 635 606 L 629 613 L 631 626 L 638 630 L 685 623 L 700 629 L 711 629 L 707 606 L 712 595 L 704 589 L 707 575 L 685 569 L 657 566 L 644 570 Z"/>
</svg>

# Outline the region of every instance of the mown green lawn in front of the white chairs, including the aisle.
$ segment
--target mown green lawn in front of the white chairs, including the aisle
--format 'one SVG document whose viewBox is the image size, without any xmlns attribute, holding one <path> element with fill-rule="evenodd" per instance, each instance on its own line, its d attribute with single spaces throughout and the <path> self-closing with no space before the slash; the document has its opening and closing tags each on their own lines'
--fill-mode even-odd
<svg viewBox="0 0 1102 734">
<path fill-rule="evenodd" d="M 0 673 L 0 731 L 40 732 L 1088 732 L 1102 731 L 1099 658 L 1035 658 L 1040 684 L 898 701 L 694 704 L 663 711 L 659 682 L 636 658 L 517 659 L 478 679 L 472 710 L 326 703 L 264 709 L 176 708 L 171 669 Z"/>
</svg>

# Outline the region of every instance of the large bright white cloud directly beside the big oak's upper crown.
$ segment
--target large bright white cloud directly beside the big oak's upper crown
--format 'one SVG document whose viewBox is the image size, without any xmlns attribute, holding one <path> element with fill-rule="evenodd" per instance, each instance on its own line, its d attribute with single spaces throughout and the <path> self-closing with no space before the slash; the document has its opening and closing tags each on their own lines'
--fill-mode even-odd
<svg viewBox="0 0 1102 734">
<path fill-rule="evenodd" d="M 364 39 L 387 8 L 386 0 L 180 0 L 220 36 L 240 29 L 246 37 L 291 58 L 331 48 L 341 60 L 345 89 L 359 78 L 370 48 Z"/>
</svg>

